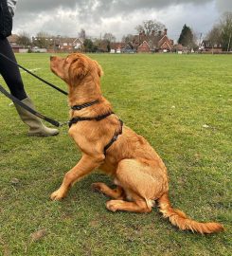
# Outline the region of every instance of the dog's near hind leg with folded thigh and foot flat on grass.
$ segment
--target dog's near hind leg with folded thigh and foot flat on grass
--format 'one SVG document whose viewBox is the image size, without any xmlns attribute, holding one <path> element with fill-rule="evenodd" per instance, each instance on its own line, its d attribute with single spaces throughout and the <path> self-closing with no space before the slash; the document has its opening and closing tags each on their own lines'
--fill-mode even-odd
<svg viewBox="0 0 232 256">
<path fill-rule="evenodd" d="M 106 203 L 106 208 L 112 211 L 150 212 L 154 200 L 164 190 L 159 171 L 158 166 L 146 165 L 136 159 L 120 161 L 116 170 L 116 185 L 123 188 L 130 202 L 111 200 Z"/>
</svg>

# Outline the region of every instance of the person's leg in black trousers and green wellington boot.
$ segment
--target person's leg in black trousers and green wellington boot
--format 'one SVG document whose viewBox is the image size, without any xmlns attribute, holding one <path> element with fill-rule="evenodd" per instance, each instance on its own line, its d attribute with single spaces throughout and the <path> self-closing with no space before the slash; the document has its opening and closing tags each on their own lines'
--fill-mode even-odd
<svg viewBox="0 0 232 256">
<path fill-rule="evenodd" d="M 16 62 L 8 39 L 0 39 L 0 52 L 6 55 L 10 60 Z M 8 60 L 0 56 L 0 74 L 9 86 L 10 93 L 20 101 L 27 104 L 30 108 L 35 109 L 33 102 L 27 97 L 18 66 L 10 63 Z M 28 135 L 54 136 L 59 134 L 57 129 L 46 127 L 40 119 L 29 113 L 26 109 L 17 104 L 14 105 L 20 118 L 29 127 Z"/>
</svg>

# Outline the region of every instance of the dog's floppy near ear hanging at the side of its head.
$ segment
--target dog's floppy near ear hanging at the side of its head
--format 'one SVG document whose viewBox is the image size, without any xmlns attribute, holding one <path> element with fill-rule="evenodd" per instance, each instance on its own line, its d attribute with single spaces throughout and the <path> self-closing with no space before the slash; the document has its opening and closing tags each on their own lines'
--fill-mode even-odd
<svg viewBox="0 0 232 256">
<path fill-rule="evenodd" d="M 69 67 L 69 77 L 73 82 L 84 78 L 89 71 L 89 64 L 82 58 L 75 60 Z"/>
</svg>

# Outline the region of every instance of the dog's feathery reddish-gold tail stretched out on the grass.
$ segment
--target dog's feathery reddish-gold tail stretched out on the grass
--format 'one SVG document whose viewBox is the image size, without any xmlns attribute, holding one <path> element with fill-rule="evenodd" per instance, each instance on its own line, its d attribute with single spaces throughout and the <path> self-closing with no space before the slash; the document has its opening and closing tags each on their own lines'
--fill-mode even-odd
<svg viewBox="0 0 232 256">
<path fill-rule="evenodd" d="M 209 222 L 201 223 L 191 220 L 187 215 L 181 210 L 172 209 L 170 205 L 170 199 L 168 193 L 163 194 L 159 199 L 159 208 L 163 213 L 165 218 L 170 219 L 170 223 L 174 226 L 177 226 L 182 230 L 191 230 L 192 232 L 196 231 L 199 233 L 215 233 L 223 230 L 223 226 L 219 223 Z"/>
</svg>

